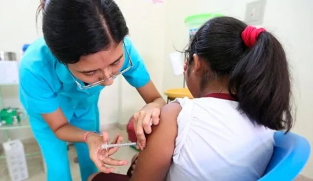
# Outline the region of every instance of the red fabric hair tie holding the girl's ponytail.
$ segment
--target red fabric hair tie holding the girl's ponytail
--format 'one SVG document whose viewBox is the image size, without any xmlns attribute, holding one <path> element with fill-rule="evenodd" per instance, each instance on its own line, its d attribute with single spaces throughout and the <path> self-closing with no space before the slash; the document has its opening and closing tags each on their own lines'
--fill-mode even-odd
<svg viewBox="0 0 313 181">
<path fill-rule="evenodd" d="M 241 38 L 248 48 L 252 48 L 256 40 L 258 39 L 260 33 L 265 32 L 264 28 L 256 28 L 254 26 L 247 26 L 245 30 L 241 33 Z"/>
</svg>

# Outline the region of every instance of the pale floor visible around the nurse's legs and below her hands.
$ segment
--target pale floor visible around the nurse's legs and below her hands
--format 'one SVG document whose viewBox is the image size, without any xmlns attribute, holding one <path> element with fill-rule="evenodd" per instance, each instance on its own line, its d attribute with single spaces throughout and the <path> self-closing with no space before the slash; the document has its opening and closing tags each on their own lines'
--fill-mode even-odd
<svg viewBox="0 0 313 181">
<path fill-rule="evenodd" d="M 127 133 L 125 130 L 114 128 L 109 131 L 109 135 L 111 135 L 112 137 L 115 136 L 116 133 L 120 133 L 120 135 L 123 136 L 124 139 L 127 139 Z M 39 150 L 39 147 L 35 141 L 27 141 L 27 143 L 24 143 L 24 145 L 25 145 L 25 152 Z M 119 151 L 116 154 L 114 154 L 114 158 L 120 159 L 120 160 L 127 160 L 130 162 L 135 153 L 137 153 L 137 151 L 131 147 L 122 147 L 119 149 Z M 73 181 L 80 181 L 78 163 L 75 163 L 73 161 L 73 159 L 76 157 L 76 151 L 73 146 L 69 148 L 68 154 L 69 154 L 69 159 L 70 159 L 71 174 L 72 174 Z M 29 178 L 27 181 L 45 181 L 45 173 L 44 173 L 44 166 L 43 166 L 42 158 L 37 156 L 37 157 L 27 158 L 26 161 L 27 161 L 28 173 L 29 173 Z M 115 173 L 125 174 L 128 168 L 129 168 L 129 165 L 118 167 L 116 168 Z M 5 160 L 0 160 L 0 181 L 10 181 L 10 177 L 8 176 L 8 171 L 6 169 Z M 313 181 L 313 180 L 300 175 L 295 181 Z"/>
</svg>

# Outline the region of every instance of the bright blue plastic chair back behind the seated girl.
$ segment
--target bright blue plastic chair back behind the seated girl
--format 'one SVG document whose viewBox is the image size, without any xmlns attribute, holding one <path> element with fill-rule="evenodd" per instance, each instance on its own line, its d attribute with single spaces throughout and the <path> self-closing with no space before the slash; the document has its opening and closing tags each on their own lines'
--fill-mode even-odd
<svg viewBox="0 0 313 181">
<path fill-rule="evenodd" d="M 292 181 L 310 157 L 310 143 L 294 133 L 274 134 L 274 152 L 264 176 L 259 181 Z"/>
</svg>

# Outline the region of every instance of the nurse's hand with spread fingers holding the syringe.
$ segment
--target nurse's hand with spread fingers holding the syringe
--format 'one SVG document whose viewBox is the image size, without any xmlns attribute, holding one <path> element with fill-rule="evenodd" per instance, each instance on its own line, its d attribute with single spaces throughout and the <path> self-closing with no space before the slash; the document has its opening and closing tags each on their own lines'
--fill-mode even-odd
<svg viewBox="0 0 313 181">
<path fill-rule="evenodd" d="M 117 134 L 114 140 L 111 142 L 111 144 L 122 143 L 122 141 L 123 137 L 120 137 L 119 134 Z M 109 135 L 108 132 L 105 131 L 102 132 L 102 135 L 89 133 L 89 135 L 87 136 L 87 144 L 89 147 L 90 159 L 95 163 L 99 171 L 104 173 L 111 173 L 114 171 L 114 168 L 107 167 L 105 164 L 121 166 L 127 165 L 128 162 L 115 160 L 112 157 L 110 157 L 118 150 L 118 147 L 109 148 L 108 150 L 101 149 L 101 145 L 106 142 L 108 142 L 109 144 Z"/>
</svg>

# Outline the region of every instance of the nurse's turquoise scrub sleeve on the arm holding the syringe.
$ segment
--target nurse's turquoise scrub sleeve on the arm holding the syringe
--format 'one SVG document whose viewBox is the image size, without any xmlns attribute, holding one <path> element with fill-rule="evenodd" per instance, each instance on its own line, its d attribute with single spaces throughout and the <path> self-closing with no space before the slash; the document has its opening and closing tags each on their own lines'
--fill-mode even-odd
<svg viewBox="0 0 313 181">
<path fill-rule="evenodd" d="M 27 112 L 46 114 L 59 107 L 57 95 L 42 75 L 20 69 L 20 98 Z"/>
</svg>

